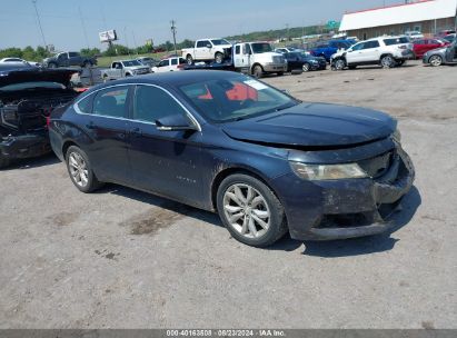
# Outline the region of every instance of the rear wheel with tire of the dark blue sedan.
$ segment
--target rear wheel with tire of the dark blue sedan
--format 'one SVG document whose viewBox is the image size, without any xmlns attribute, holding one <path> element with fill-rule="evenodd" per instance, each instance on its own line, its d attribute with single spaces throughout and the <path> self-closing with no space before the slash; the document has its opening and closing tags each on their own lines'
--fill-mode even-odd
<svg viewBox="0 0 457 338">
<path fill-rule="evenodd" d="M 68 148 L 66 163 L 70 179 L 79 191 L 88 193 L 102 186 L 92 171 L 88 156 L 79 147 Z"/>
</svg>

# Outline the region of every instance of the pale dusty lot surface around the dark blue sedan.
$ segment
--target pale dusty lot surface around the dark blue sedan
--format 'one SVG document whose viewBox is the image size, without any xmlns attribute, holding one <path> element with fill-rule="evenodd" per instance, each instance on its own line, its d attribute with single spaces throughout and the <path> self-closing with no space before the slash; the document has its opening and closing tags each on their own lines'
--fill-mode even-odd
<svg viewBox="0 0 457 338">
<path fill-rule="evenodd" d="M 399 118 L 416 187 L 393 233 L 238 243 L 218 217 L 108 186 L 52 156 L 0 171 L 0 328 L 457 328 L 456 67 L 268 78 Z"/>
</svg>

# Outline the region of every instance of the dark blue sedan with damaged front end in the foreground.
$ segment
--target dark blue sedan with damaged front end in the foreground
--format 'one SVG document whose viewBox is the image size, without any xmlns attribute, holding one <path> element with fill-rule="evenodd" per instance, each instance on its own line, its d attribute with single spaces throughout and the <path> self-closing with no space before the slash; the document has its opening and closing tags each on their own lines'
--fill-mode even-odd
<svg viewBox="0 0 457 338">
<path fill-rule="evenodd" d="M 386 231 L 414 168 L 397 122 L 305 103 L 250 77 L 180 71 L 129 78 L 56 110 L 53 151 L 82 192 L 115 182 L 217 211 L 239 241 Z"/>
</svg>

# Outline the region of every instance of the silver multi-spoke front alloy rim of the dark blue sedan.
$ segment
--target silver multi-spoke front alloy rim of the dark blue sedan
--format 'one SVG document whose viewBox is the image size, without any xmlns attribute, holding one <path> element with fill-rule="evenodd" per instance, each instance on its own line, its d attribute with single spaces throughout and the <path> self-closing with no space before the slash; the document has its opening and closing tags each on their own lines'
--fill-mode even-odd
<svg viewBox="0 0 457 338">
<path fill-rule="evenodd" d="M 237 183 L 226 190 L 223 212 L 229 225 L 246 238 L 262 237 L 270 228 L 267 200 L 249 185 Z"/>
</svg>

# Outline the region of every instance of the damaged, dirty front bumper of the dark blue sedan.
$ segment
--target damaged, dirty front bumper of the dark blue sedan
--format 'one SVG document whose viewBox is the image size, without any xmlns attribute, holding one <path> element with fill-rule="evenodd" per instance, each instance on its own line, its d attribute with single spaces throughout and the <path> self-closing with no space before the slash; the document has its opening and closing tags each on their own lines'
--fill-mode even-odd
<svg viewBox="0 0 457 338">
<path fill-rule="evenodd" d="M 301 196 L 285 197 L 290 236 L 298 240 L 335 240 L 377 235 L 394 227 L 391 216 L 413 187 L 415 169 L 400 147 L 393 153 L 388 170 L 376 179 L 282 182 L 306 189 Z"/>
</svg>

